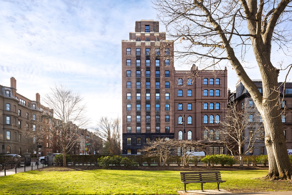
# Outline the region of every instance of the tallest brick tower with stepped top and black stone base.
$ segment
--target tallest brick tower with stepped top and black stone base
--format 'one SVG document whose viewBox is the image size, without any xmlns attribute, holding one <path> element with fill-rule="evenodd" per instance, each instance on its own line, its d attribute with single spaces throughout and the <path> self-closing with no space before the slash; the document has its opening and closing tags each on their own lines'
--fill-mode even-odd
<svg viewBox="0 0 292 195">
<path fill-rule="evenodd" d="M 174 138 L 173 46 L 154 20 L 136 21 L 135 32 L 122 40 L 123 155 Z"/>
</svg>

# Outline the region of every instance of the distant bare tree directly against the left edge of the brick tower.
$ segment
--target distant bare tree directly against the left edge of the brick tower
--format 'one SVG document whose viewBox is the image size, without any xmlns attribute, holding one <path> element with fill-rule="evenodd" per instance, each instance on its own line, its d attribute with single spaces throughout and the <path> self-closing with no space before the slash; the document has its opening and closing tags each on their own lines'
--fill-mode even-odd
<svg viewBox="0 0 292 195">
<path fill-rule="evenodd" d="M 101 117 L 95 131 L 105 140 L 105 150 L 112 154 L 121 154 L 121 120 L 119 117 L 115 119 Z"/>
</svg>

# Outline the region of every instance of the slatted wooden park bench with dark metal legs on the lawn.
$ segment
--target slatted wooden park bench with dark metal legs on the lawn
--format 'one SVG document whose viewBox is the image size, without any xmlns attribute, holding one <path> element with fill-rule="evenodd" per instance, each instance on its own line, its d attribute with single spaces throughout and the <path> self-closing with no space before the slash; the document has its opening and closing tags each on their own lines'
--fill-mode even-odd
<svg viewBox="0 0 292 195">
<path fill-rule="evenodd" d="M 221 180 L 220 171 L 200 171 L 200 172 L 180 172 L 180 180 L 182 183 L 201 183 L 201 190 L 203 191 L 203 184 L 210 182 L 217 182 L 217 189 L 219 190 L 219 184 L 226 182 Z M 186 189 L 185 189 L 185 192 Z"/>
</svg>

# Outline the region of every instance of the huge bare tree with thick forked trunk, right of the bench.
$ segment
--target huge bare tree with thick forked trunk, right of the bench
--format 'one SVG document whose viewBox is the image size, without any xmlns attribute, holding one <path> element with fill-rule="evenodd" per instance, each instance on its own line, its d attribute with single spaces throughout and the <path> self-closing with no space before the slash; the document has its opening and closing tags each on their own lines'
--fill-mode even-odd
<svg viewBox="0 0 292 195">
<path fill-rule="evenodd" d="M 232 65 L 263 117 L 269 158 L 266 178 L 291 179 L 279 111 L 278 75 L 283 63 L 276 68 L 271 62 L 272 49 L 291 56 L 291 0 L 153 0 L 153 4 L 170 36 L 183 44 L 178 58 L 206 67 Z M 263 96 L 244 68 L 251 51 L 263 81 Z M 288 73 L 291 68 L 292 64 L 286 65 Z"/>
</svg>

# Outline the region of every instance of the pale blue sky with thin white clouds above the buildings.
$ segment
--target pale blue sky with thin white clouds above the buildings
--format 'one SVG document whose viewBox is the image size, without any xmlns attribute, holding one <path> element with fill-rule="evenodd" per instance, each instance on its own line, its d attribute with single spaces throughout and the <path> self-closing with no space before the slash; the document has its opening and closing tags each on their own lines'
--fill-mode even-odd
<svg viewBox="0 0 292 195">
<path fill-rule="evenodd" d="M 19 94 L 42 100 L 62 83 L 84 97 L 91 126 L 121 117 L 121 40 L 149 19 L 158 20 L 149 0 L 0 0 L 0 84 L 10 87 L 14 77 Z M 175 70 L 190 66 L 176 61 Z M 238 78 L 227 70 L 234 91 Z M 260 79 L 257 70 L 248 74 Z"/>
</svg>

